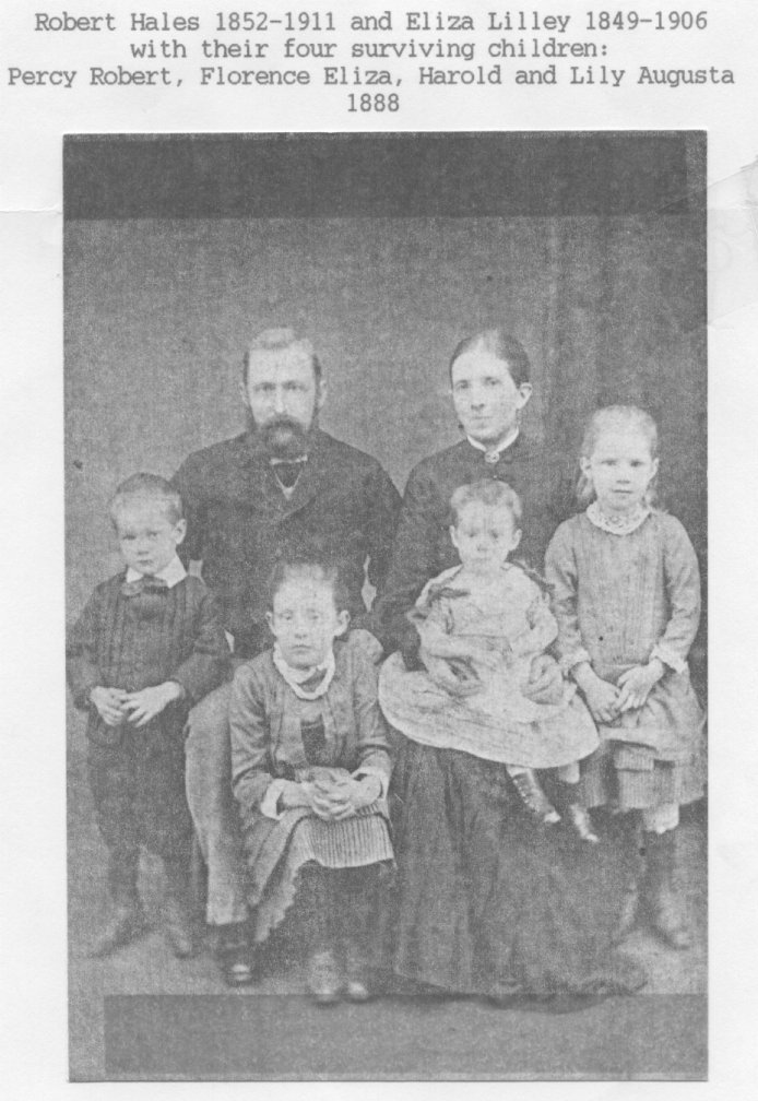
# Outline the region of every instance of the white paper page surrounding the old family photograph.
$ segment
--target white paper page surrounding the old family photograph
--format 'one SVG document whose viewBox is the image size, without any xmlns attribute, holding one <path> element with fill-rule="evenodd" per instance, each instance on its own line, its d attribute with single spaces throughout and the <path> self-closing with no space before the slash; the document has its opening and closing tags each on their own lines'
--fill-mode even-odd
<svg viewBox="0 0 758 1101">
<path fill-rule="evenodd" d="M 68 4 L 75 14 L 138 11 L 207 15 L 218 2 L 171 4 L 115 0 Z M 267 10 L 291 10 L 281 0 Z M 311 8 L 315 6 L 310 6 Z M 343 12 L 354 4 L 323 4 Z M 498 10 L 497 4 L 440 3 L 430 11 Z M 508 10 L 506 6 L 500 6 Z M 584 13 L 594 7 L 523 6 Z M 598 10 L 602 6 L 597 6 Z M 636 9 L 656 11 L 649 0 Z M 358 10 L 422 9 L 382 0 Z M 618 89 L 563 91 L 402 88 L 398 115 L 347 115 L 343 90 L 10 88 L 9 65 L 80 68 L 126 64 L 124 46 L 96 35 L 33 35 L 32 14 L 62 7 L 4 0 L 0 10 L 0 209 L 2 210 L 2 631 L 3 708 L 0 821 L 2 985 L 0 1050 L 6 1097 L 57 1097 L 68 1089 L 96 1095 L 183 1097 L 242 1091 L 301 1094 L 303 1086 L 102 1084 L 66 1087 L 65 802 L 63 653 L 62 415 L 62 134 L 66 132 L 705 129 L 708 133 L 710 447 L 711 447 L 711 1082 L 556 1083 L 513 1091 L 556 1097 L 754 1097 L 758 1070 L 758 896 L 756 693 L 756 412 L 758 383 L 758 8 L 721 0 L 697 50 L 667 67 L 714 64 L 737 75 L 734 86 L 647 89 L 628 78 Z M 611 9 L 617 10 L 617 9 Z M 668 9 L 667 9 L 668 10 Z M 700 10 L 695 6 L 692 10 Z M 123 20 L 126 22 L 126 19 Z M 587 37 L 587 35 L 584 35 Z M 45 39 L 40 42 L 37 40 Z M 65 40 L 65 42 L 63 41 Z M 77 50 L 78 47 L 78 50 Z M 608 62 L 630 70 L 645 63 L 639 40 L 613 43 Z M 80 53 L 79 53 L 80 51 Z M 649 53 L 649 51 L 648 51 Z M 134 63 L 139 65 L 141 63 Z M 160 62 L 153 63 L 160 66 Z M 170 64 L 170 63 L 166 63 Z M 651 61 L 650 64 L 660 64 Z M 235 63 L 255 67 L 253 62 Z M 271 65 L 273 67 L 273 63 Z M 345 89 L 350 90 L 350 89 Z M 356 89 L 361 90 L 361 89 Z M 185 94 L 186 92 L 186 94 Z M 752 165 L 752 170 L 750 170 Z M 495 1095 L 502 1086 L 307 1087 L 310 1095 Z"/>
</svg>

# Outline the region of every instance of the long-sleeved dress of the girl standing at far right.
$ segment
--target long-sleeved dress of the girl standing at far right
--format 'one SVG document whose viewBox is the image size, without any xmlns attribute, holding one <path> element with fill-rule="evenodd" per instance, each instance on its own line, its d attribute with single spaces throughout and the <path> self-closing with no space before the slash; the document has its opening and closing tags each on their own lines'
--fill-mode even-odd
<svg viewBox="0 0 758 1101">
<path fill-rule="evenodd" d="M 665 667 L 641 708 L 599 728 L 602 748 L 582 767 L 585 804 L 631 810 L 700 798 L 703 712 L 686 661 L 700 621 L 700 576 L 682 524 L 646 511 L 619 534 L 592 504 L 557 528 L 545 568 L 564 668 L 589 662 L 616 683 L 651 657 Z"/>
</svg>

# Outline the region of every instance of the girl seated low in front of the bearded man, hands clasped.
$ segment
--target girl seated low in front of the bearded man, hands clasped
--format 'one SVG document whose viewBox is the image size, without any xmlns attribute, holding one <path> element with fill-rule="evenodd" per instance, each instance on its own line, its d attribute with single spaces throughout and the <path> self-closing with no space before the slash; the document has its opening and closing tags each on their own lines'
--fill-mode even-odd
<svg viewBox="0 0 758 1101">
<path fill-rule="evenodd" d="M 334 564 L 281 562 L 268 621 L 275 644 L 235 675 L 232 784 L 264 941 L 297 900 L 306 919 L 307 989 L 326 1004 L 370 996 L 366 960 L 381 865 L 391 765 L 377 702 L 379 643 L 348 631 Z"/>
</svg>

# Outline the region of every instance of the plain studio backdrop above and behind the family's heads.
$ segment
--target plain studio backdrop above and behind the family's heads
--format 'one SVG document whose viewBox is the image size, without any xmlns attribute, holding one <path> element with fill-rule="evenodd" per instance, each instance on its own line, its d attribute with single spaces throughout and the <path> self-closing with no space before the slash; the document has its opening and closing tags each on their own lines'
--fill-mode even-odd
<svg viewBox="0 0 758 1101">
<path fill-rule="evenodd" d="M 118 568 L 116 483 L 242 429 L 242 353 L 273 325 L 316 347 L 322 426 L 401 490 L 458 438 L 454 346 L 505 325 L 566 464 L 597 405 L 650 410 L 704 564 L 704 182 L 691 132 L 67 138 L 69 614 Z"/>
</svg>

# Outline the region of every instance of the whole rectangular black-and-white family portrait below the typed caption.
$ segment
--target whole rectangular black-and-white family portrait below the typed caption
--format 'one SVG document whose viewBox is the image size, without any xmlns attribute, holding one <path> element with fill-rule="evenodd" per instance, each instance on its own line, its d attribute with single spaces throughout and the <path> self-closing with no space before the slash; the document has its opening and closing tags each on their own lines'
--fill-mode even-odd
<svg viewBox="0 0 758 1101">
<path fill-rule="evenodd" d="M 705 157 L 65 137 L 73 1080 L 706 1077 Z"/>
</svg>

